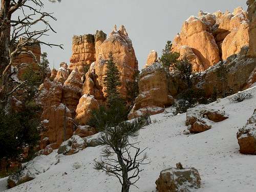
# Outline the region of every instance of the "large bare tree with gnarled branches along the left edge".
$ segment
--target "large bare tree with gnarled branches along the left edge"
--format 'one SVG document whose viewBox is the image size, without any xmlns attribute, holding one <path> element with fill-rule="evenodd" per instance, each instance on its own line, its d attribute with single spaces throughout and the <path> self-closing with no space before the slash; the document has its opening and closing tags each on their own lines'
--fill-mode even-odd
<svg viewBox="0 0 256 192">
<path fill-rule="evenodd" d="M 49 0 L 60 2 L 60 0 Z M 41 41 L 40 37 L 55 32 L 49 19 L 56 20 L 52 13 L 42 11 L 42 0 L 1 0 L 0 10 L 0 108 L 10 108 L 10 96 L 24 84 L 24 81 L 12 83 L 12 75 L 17 73 L 19 65 L 11 71 L 11 65 L 17 55 L 28 54 L 37 61 L 27 47 L 35 44 L 59 47 L 61 45 Z M 38 25 L 43 24 L 40 29 Z"/>
</svg>

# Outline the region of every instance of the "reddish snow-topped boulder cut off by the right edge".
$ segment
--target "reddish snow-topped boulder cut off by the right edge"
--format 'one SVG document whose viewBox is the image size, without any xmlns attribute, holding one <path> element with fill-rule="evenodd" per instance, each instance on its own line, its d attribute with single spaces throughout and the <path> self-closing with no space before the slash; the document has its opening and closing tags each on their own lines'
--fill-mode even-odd
<svg viewBox="0 0 256 192">
<path fill-rule="evenodd" d="M 245 126 L 237 133 L 240 153 L 256 155 L 256 109 Z"/>
</svg>

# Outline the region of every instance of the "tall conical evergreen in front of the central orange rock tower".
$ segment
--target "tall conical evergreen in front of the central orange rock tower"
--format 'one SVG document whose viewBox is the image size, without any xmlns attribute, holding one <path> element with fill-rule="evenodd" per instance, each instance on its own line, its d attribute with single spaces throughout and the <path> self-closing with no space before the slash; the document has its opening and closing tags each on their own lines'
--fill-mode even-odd
<svg viewBox="0 0 256 192">
<path fill-rule="evenodd" d="M 104 77 L 104 86 L 106 87 L 107 103 L 112 105 L 117 99 L 120 99 L 118 86 L 121 85 L 120 74 L 114 62 L 112 52 L 109 53 L 109 60 L 106 62 L 107 69 Z"/>
</svg>

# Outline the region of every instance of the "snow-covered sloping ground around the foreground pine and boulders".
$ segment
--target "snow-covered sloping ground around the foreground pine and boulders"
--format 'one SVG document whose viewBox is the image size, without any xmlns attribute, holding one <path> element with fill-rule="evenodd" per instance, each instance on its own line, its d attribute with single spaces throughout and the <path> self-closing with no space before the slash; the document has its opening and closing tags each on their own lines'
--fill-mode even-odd
<svg viewBox="0 0 256 192">
<path fill-rule="evenodd" d="M 140 147 L 148 147 L 151 159 L 145 165 L 137 183 L 139 189 L 131 191 L 156 191 L 155 181 L 162 169 L 181 162 L 184 167 L 195 167 L 201 176 L 201 188 L 195 191 L 256 191 L 256 156 L 242 155 L 236 133 L 256 108 L 256 87 L 249 90 L 254 97 L 241 103 L 230 103 L 227 98 L 211 103 L 214 109 L 225 110 L 229 118 L 212 124 L 212 129 L 195 135 L 183 135 L 186 114 L 166 117 L 152 116 L 153 123 L 140 131 Z M 168 109 L 167 109 L 168 110 Z M 168 114 L 167 114 L 168 115 Z M 87 147 L 71 156 L 57 155 L 56 151 L 44 159 L 59 158 L 45 173 L 32 181 L 7 190 L 11 191 L 86 191 L 116 192 L 120 184 L 116 178 L 106 176 L 93 168 L 93 160 L 100 155 L 99 147 Z M 74 163 L 81 165 L 76 169 Z M 77 163 L 76 163 L 77 164 Z M 4 190 L 6 178 L 0 179 L 0 191 Z"/>
</svg>

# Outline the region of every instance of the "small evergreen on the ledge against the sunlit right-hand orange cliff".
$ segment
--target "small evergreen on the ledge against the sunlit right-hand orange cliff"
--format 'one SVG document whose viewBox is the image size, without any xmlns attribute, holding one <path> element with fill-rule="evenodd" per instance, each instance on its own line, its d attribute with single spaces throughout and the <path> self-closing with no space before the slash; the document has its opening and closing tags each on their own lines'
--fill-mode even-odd
<svg viewBox="0 0 256 192">
<path fill-rule="evenodd" d="M 172 42 L 167 41 L 165 48 L 162 50 L 162 56 L 159 58 L 159 61 L 162 63 L 164 67 L 169 69 L 174 63 L 178 61 L 180 54 L 177 52 L 172 52 Z"/>
</svg>

